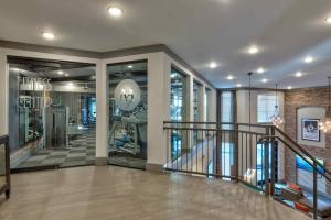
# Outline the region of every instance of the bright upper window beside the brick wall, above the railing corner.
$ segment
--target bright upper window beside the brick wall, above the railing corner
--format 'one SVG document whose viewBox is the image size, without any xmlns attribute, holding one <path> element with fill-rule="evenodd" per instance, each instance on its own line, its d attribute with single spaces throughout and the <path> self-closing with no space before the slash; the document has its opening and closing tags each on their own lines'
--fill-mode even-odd
<svg viewBox="0 0 331 220">
<path fill-rule="evenodd" d="M 258 95 L 257 96 L 257 123 L 269 123 L 270 117 L 275 112 L 276 96 Z"/>
</svg>

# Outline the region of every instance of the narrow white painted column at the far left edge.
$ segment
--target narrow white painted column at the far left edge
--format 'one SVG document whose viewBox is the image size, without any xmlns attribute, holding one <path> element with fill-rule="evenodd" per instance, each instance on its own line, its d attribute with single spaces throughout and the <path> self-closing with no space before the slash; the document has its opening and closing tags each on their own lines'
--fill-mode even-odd
<svg viewBox="0 0 331 220">
<path fill-rule="evenodd" d="M 3 48 L 0 48 L 0 136 L 8 134 L 8 65 Z"/>
</svg>

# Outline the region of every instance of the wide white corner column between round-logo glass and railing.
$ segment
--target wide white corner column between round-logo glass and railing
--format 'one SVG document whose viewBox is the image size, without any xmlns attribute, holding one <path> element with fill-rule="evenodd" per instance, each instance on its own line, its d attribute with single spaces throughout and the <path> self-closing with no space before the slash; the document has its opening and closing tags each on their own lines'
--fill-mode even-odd
<svg viewBox="0 0 331 220">
<path fill-rule="evenodd" d="M 170 119 L 170 68 L 164 53 L 148 59 L 148 170 L 162 170 L 167 162 L 167 132 L 163 121 Z"/>
</svg>

